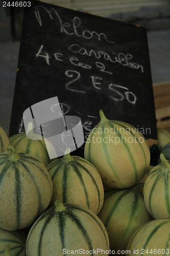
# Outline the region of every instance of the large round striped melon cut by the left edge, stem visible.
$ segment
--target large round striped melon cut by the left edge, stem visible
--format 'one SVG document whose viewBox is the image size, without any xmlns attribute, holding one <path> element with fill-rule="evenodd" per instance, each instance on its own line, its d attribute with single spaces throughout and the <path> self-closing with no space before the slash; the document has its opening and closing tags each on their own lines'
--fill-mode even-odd
<svg viewBox="0 0 170 256">
<path fill-rule="evenodd" d="M 36 158 L 9 152 L 0 154 L 0 227 L 17 230 L 31 225 L 47 208 L 52 197 L 52 180 Z"/>
</svg>

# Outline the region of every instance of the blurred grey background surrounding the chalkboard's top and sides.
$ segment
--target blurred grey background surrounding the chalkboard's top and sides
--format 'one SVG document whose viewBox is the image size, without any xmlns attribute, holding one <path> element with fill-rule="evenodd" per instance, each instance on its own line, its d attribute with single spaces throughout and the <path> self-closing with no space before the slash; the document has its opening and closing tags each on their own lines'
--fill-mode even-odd
<svg viewBox="0 0 170 256">
<path fill-rule="evenodd" d="M 170 131 L 170 0 L 45 0 L 147 29 L 157 126 Z M 22 11 L 22 9 L 21 9 Z M 6 16 L 0 1 L 0 126 L 8 134 L 23 12 Z"/>
</svg>

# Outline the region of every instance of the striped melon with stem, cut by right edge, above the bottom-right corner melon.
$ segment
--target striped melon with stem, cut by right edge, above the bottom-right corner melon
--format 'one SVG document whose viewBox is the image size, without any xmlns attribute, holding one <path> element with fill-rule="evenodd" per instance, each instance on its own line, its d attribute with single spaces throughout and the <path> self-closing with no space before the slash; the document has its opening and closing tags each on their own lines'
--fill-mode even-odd
<svg viewBox="0 0 170 256">
<path fill-rule="evenodd" d="M 170 219 L 170 160 L 160 154 L 162 163 L 149 173 L 143 187 L 145 205 L 154 219 Z"/>
</svg>

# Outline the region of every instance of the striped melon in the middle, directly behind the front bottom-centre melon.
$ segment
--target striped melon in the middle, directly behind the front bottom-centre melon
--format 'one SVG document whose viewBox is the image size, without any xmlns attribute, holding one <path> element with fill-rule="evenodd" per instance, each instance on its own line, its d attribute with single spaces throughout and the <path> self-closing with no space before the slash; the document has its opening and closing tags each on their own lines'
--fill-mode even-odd
<svg viewBox="0 0 170 256">
<path fill-rule="evenodd" d="M 46 167 L 53 182 L 51 205 L 55 201 L 79 204 L 98 214 L 104 201 L 101 176 L 90 162 L 70 156 L 69 151 Z"/>
</svg>

